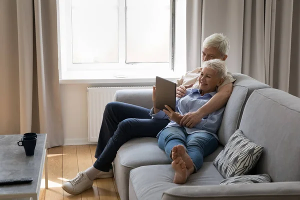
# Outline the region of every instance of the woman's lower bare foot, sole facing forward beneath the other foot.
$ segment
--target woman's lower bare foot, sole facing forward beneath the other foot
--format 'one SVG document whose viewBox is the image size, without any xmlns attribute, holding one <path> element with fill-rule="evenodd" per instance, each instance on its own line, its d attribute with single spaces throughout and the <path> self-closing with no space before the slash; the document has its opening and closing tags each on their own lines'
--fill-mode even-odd
<svg viewBox="0 0 300 200">
<path fill-rule="evenodd" d="M 172 161 L 172 168 L 175 170 L 173 182 L 176 184 L 184 184 L 189 172 L 181 157 L 177 157 L 174 161 Z"/>
</svg>

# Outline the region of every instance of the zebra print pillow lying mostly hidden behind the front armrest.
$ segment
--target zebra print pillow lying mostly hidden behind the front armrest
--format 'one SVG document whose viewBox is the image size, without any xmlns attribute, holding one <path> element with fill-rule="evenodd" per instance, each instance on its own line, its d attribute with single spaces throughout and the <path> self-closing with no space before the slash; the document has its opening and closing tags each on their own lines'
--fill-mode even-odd
<svg viewBox="0 0 300 200">
<path fill-rule="evenodd" d="M 241 175 L 241 176 L 226 178 L 222 180 L 220 184 L 264 183 L 270 181 L 271 181 L 271 177 L 268 174 L 263 173 L 258 175 Z"/>
</svg>

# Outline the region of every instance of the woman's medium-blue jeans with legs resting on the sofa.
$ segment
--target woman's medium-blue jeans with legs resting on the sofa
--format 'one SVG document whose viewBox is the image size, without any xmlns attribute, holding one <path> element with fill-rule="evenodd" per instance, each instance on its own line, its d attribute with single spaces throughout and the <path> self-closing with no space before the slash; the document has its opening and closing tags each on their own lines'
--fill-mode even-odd
<svg viewBox="0 0 300 200">
<path fill-rule="evenodd" d="M 170 159 L 173 146 L 178 144 L 185 147 L 197 171 L 203 164 L 203 158 L 215 151 L 218 141 L 207 132 L 187 134 L 185 128 L 181 126 L 166 127 L 160 132 L 158 146 Z"/>
</svg>

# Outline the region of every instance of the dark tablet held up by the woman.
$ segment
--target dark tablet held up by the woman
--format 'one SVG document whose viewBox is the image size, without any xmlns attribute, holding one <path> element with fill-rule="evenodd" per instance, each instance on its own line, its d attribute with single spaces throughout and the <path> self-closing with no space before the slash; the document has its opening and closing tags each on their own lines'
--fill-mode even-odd
<svg viewBox="0 0 300 200">
<path fill-rule="evenodd" d="M 176 83 L 156 76 L 156 108 L 166 109 L 164 105 L 170 106 L 175 111 Z"/>
</svg>

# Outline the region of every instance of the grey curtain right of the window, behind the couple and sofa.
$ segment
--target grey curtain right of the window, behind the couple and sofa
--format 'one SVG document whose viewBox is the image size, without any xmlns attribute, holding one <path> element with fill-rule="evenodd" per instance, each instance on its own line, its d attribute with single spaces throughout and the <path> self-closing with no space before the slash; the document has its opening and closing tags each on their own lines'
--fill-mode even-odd
<svg viewBox="0 0 300 200">
<path fill-rule="evenodd" d="M 299 0 L 187 0 L 187 69 L 200 65 L 201 42 L 230 40 L 229 71 L 300 97 Z"/>
</svg>

